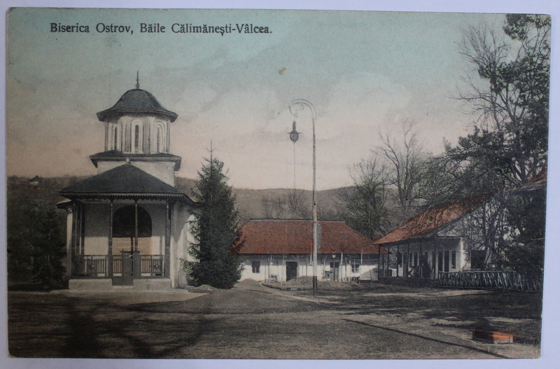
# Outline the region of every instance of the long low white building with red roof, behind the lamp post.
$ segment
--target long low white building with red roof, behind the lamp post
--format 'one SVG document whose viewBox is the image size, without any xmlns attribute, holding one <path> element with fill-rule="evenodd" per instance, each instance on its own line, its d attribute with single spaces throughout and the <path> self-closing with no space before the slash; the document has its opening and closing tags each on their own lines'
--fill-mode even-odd
<svg viewBox="0 0 560 369">
<path fill-rule="evenodd" d="M 244 271 L 241 279 L 289 281 L 311 277 L 313 222 L 251 219 L 232 249 Z M 318 279 L 377 280 L 379 256 L 386 253 L 372 239 L 342 221 L 318 222 Z"/>
</svg>

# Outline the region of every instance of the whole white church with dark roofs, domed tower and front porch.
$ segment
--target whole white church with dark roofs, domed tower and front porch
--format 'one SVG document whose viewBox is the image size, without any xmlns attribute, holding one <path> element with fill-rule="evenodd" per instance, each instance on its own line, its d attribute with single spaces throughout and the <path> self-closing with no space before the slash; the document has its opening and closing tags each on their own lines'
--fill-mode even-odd
<svg viewBox="0 0 560 369">
<path fill-rule="evenodd" d="M 59 193 L 66 201 L 69 288 L 162 290 L 186 284 L 196 204 L 175 186 L 181 158 L 169 153 L 177 114 L 134 90 L 97 113 L 105 148 L 90 155 L 97 175 Z"/>
</svg>

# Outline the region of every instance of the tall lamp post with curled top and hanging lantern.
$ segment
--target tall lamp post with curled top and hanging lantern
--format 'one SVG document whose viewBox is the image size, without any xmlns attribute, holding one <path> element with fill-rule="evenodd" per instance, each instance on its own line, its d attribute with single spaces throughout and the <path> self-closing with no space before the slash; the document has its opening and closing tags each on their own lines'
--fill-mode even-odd
<svg viewBox="0 0 560 369">
<path fill-rule="evenodd" d="M 315 108 L 313 104 L 308 102 L 307 100 L 297 99 L 293 102 L 290 102 L 288 106 L 290 108 L 290 113 L 293 114 L 295 118 L 297 118 L 297 113 L 303 111 L 305 107 L 308 107 L 311 110 L 311 121 L 313 123 L 313 294 L 317 293 L 317 198 L 316 198 L 316 171 L 317 171 L 317 164 L 316 164 L 316 150 L 315 150 Z M 295 130 L 295 120 L 293 122 L 293 130 L 290 132 L 290 139 L 295 144 L 295 141 L 299 138 L 299 133 Z"/>
</svg>

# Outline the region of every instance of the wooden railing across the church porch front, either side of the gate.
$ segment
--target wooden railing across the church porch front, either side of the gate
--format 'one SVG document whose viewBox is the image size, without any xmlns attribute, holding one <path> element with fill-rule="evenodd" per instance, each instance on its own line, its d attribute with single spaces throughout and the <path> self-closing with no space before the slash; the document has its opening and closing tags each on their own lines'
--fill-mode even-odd
<svg viewBox="0 0 560 369">
<path fill-rule="evenodd" d="M 141 277 L 164 277 L 163 255 L 141 255 Z M 109 278 L 109 256 L 107 255 L 75 255 L 72 262 L 72 275 L 77 278 Z M 113 277 L 123 275 L 123 258 L 113 256 Z"/>
</svg>

